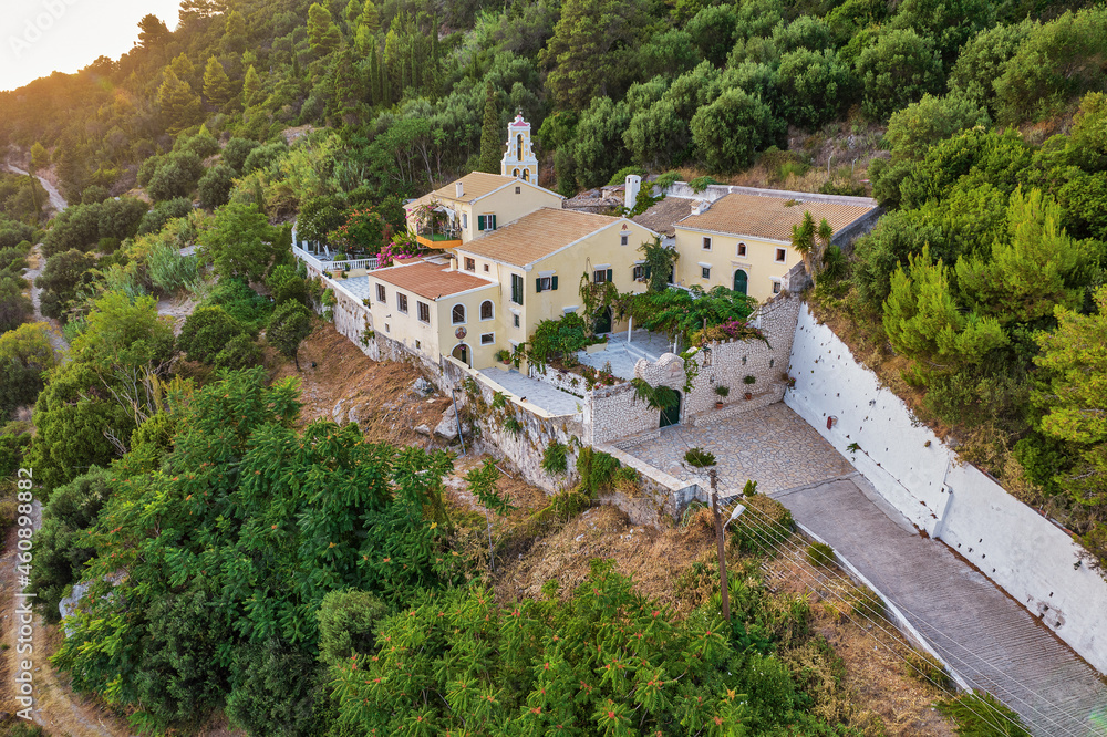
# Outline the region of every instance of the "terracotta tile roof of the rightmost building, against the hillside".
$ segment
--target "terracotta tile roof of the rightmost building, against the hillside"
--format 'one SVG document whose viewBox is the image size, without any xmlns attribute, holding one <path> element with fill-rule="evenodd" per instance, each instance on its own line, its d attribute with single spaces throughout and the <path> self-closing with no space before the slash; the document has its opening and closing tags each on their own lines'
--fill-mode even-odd
<svg viewBox="0 0 1107 737">
<path fill-rule="evenodd" d="M 787 205 L 787 203 L 794 204 Z M 792 226 L 804 221 L 804 212 L 810 212 L 816 225 L 826 218 L 835 232 L 838 232 L 873 207 L 839 203 L 798 203 L 783 197 L 732 194 L 712 203 L 706 212 L 690 215 L 677 225 L 682 228 L 790 241 Z"/>
</svg>

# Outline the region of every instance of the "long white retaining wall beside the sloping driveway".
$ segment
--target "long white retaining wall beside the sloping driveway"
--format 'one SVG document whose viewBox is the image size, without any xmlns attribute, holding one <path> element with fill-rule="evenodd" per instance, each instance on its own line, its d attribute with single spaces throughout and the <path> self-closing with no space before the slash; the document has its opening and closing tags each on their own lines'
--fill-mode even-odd
<svg viewBox="0 0 1107 737">
<path fill-rule="evenodd" d="M 1099 672 L 1107 672 L 1107 581 L 1082 548 L 956 455 L 805 304 L 785 403 L 912 523 L 999 584 Z M 830 429 L 828 417 L 836 418 Z M 850 450 L 850 444 L 859 447 Z"/>
</svg>

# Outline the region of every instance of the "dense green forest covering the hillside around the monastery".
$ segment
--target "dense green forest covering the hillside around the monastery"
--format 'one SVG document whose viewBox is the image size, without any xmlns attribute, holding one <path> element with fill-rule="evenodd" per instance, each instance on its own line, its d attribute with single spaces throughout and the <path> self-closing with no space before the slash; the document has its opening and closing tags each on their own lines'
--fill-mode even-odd
<svg viewBox="0 0 1107 737">
<path fill-rule="evenodd" d="M 136 39 L 0 93 L 0 158 L 69 201 L 0 173 L 0 476 L 42 485 L 42 614 L 91 587 L 55 665 L 136 727 L 221 709 L 251 735 L 875 734 L 821 708 L 829 647 L 756 565 L 733 627 L 717 599 L 677 616 L 602 563 L 500 605 L 467 537 L 483 518 L 443 504 L 448 457 L 298 427 L 294 384 L 251 369 L 298 365 L 328 304 L 293 219 L 401 252 L 403 200 L 498 172 L 516 111 L 567 196 L 757 169 L 876 197 L 848 258 L 813 253 L 810 301 L 1107 559 L 1101 3 L 184 0 Z M 35 263 L 64 361 L 32 321 Z M 174 335 L 156 305 L 184 293 Z M 504 511 L 496 474 L 466 480 Z"/>
</svg>

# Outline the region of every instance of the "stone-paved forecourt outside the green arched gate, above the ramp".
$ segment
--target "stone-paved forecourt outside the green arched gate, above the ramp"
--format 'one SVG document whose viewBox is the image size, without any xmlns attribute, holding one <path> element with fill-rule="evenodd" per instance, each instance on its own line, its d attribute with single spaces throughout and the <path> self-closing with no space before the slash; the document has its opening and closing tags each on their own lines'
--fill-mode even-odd
<svg viewBox="0 0 1107 737">
<path fill-rule="evenodd" d="M 853 467 L 784 403 L 753 409 L 715 425 L 673 425 L 661 437 L 623 440 L 615 446 L 683 480 L 703 474 L 684 468 L 684 454 L 701 447 L 715 454 L 722 489 L 757 481 L 763 494 L 784 491 L 845 476 Z"/>
</svg>

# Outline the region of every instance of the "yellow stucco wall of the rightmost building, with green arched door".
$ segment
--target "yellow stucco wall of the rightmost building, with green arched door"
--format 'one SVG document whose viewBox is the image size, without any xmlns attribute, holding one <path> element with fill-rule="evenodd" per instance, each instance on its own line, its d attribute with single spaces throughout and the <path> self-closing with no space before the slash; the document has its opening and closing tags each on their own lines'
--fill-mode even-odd
<svg viewBox="0 0 1107 737">
<path fill-rule="evenodd" d="M 703 239 L 711 238 L 711 250 L 704 250 Z M 746 255 L 738 256 L 738 243 L 746 245 Z M 783 248 L 784 262 L 776 260 L 776 251 Z M 790 243 L 693 230 L 676 227 L 676 281 L 685 287 L 699 284 L 704 289 L 718 287 L 734 288 L 734 272 L 746 272 L 746 293 L 764 302 L 773 297 L 774 280 L 782 280 L 788 270 L 804 259 Z M 711 278 L 702 276 L 702 263 L 711 268 Z"/>
</svg>

